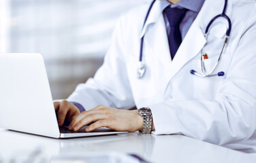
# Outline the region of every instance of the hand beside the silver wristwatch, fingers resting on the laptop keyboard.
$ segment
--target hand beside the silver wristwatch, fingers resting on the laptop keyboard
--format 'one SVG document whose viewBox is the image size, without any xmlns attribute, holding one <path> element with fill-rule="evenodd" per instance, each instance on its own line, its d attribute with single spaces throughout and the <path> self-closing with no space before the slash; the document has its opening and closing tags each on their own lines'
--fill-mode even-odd
<svg viewBox="0 0 256 163">
<path fill-rule="evenodd" d="M 93 123 L 93 124 L 91 124 Z M 99 105 L 89 111 L 83 111 L 69 125 L 69 130 L 80 130 L 91 124 L 85 131 L 90 132 L 97 128 L 107 127 L 116 131 L 134 132 L 142 130 L 143 118 L 137 110 L 121 110 Z"/>
</svg>

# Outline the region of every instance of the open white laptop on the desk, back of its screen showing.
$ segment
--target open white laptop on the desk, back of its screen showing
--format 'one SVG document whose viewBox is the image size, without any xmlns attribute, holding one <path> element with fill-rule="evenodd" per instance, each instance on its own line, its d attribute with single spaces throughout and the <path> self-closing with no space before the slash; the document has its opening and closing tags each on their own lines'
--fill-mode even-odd
<svg viewBox="0 0 256 163">
<path fill-rule="evenodd" d="M 0 53 L 0 116 L 1 128 L 52 138 L 122 133 L 109 128 L 93 132 L 59 128 L 44 58 L 37 53 Z"/>
</svg>

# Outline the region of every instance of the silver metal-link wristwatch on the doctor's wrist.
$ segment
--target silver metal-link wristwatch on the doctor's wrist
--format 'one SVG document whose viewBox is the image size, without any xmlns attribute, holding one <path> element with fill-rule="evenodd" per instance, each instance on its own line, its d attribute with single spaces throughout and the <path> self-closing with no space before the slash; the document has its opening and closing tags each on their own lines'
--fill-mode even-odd
<svg viewBox="0 0 256 163">
<path fill-rule="evenodd" d="M 138 113 L 143 118 L 143 129 L 140 131 L 142 134 L 150 134 L 152 128 L 152 113 L 149 107 L 142 107 L 138 109 Z"/>
</svg>

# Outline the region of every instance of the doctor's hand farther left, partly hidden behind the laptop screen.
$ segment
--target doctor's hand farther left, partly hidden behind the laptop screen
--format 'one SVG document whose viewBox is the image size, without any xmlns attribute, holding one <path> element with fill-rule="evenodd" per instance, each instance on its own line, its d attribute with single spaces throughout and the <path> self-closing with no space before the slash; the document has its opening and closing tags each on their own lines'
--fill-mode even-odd
<svg viewBox="0 0 256 163">
<path fill-rule="evenodd" d="M 59 126 L 63 126 L 65 120 L 71 122 L 80 114 L 80 110 L 76 105 L 65 100 L 61 102 L 54 102 L 54 108 Z"/>
</svg>

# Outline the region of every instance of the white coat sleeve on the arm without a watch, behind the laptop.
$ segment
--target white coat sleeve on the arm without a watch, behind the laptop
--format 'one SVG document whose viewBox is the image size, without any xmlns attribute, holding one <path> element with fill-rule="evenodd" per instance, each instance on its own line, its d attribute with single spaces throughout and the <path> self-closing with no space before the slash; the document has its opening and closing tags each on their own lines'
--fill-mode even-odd
<svg viewBox="0 0 256 163">
<path fill-rule="evenodd" d="M 79 84 L 67 101 L 80 103 L 84 109 L 106 105 L 118 109 L 135 106 L 127 69 L 125 67 L 125 42 L 123 41 L 123 19 L 118 20 L 112 36 L 111 46 L 104 58 L 103 65 L 95 76 L 85 84 Z"/>
</svg>

